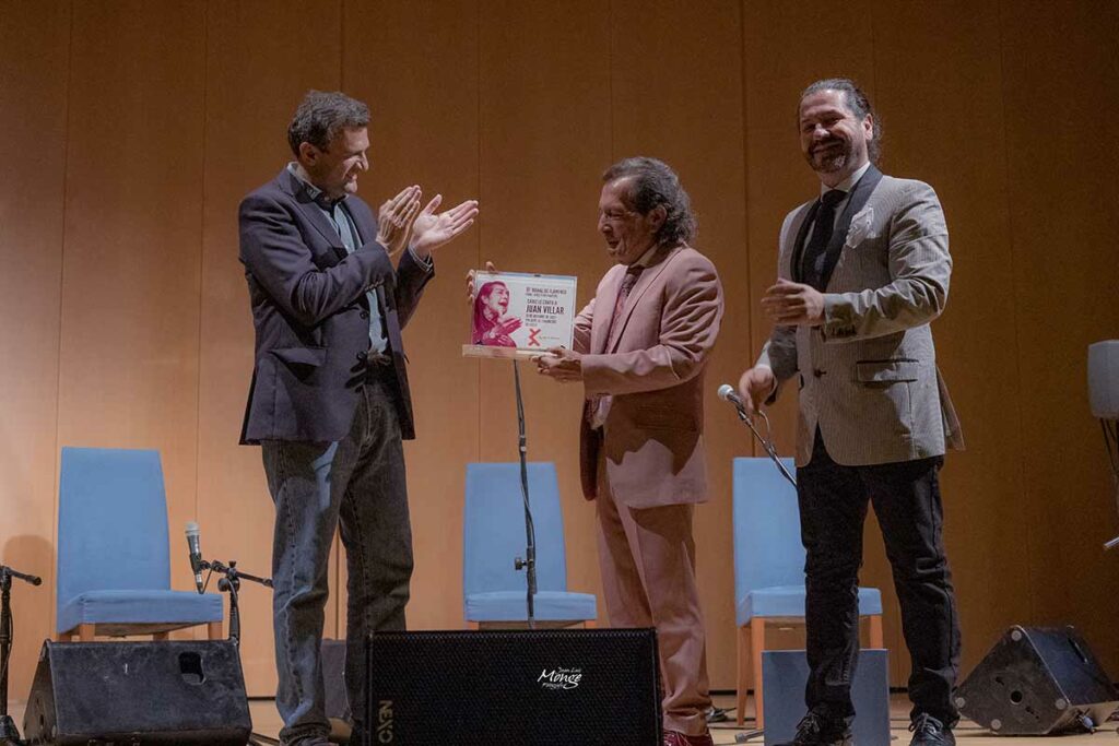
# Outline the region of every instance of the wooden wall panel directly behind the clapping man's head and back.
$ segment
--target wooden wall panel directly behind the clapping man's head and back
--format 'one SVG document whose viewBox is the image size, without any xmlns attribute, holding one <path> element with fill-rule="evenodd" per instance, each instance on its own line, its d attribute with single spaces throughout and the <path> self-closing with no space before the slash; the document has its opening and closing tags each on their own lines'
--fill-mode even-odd
<svg viewBox="0 0 1119 746">
<path fill-rule="evenodd" d="M 206 13 L 206 161 L 198 381 L 198 522 L 208 556 L 272 574 L 272 500 L 261 450 L 237 445 L 253 370 L 253 320 L 238 259 L 237 206 L 292 159 L 288 123 L 310 88 L 341 84 L 341 8 L 210 2 Z M 319 49 L 317 55 L 301 55 Z M 368 185 L 365 185 L 368 187 Z M 179 547 L 179 527 L 172 525 Z M 275 692 L 272 594 L 245 584 L 242 660 L 251 695 Z M 337 614 L 325 632 L 337 636 Z"/>
</svg>

